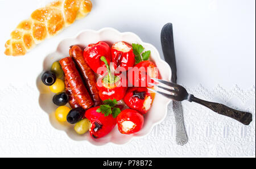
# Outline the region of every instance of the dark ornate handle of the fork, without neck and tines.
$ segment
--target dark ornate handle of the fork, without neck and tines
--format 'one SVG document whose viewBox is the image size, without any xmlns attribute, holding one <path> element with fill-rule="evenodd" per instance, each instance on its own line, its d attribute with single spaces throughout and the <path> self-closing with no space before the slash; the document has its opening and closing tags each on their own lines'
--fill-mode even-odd
<svg viewBox="0 0 256 169">
<path fill-rule="evenodd" d="M 191 98 L 189 100 L 191 102 L 196 102 L 201 105 L 204 105 L 205 107 L 212 109 L 214 112 L 216 112 L 220 115 L 228 116 L 228 117 L 231 117 L 232 119 L 240 121 L 244 125 L 249 125 L 250 122 L 253 120 L 251 113 L 238 111 L 238 110 L 232 109 L 224 104 L 207 102 L 205 100 L 196 98 L 193 95 L 191 95 Z"/>
</svg>

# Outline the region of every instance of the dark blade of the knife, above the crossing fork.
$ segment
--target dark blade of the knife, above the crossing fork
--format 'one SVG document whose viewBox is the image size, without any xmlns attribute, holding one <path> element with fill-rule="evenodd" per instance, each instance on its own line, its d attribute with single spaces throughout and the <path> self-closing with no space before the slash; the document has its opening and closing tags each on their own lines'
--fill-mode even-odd
<svg viewBox="0 0 256 169">
<path fill-rule="evenodd" d="M 171 66 L 172 79 L 171 81 L 177 82 L 177 67 L 174 50 L 174 32 L 172 30 L 172 23 L 167 23 L 161 32 L 161 43 L 164 53 L 164 60 Z"/>
</svg>

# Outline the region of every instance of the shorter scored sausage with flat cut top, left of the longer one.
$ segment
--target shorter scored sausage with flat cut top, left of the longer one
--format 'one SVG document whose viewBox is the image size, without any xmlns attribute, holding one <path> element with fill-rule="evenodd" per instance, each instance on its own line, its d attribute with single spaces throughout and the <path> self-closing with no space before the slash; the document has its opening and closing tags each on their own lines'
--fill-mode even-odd
<svg viewBox="0 0 256 169">
<path fill-rule="evenodd" d="M 72 57 L 63 58 L 60 60 L 60 65 L 71 87 L 72 94 L 79 105 L 84 109 L 92 107 L 94 103 L 82 82 L 82 78 L 80 77 L 79 71 L 76 69 L 76 65 Z"/>
</svg>

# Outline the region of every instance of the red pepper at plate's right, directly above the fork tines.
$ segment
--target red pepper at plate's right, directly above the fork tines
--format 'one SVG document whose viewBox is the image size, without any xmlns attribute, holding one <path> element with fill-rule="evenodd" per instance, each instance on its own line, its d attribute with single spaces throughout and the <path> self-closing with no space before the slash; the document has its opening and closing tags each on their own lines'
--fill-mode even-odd
<svg viewBox="0 0 256 169">
<path fill-rule="evenodd" d="M 154 83 L 151 78 L 159 78 L 156 65 L 151 61 L 142 61 L 128 71 L 128 80 L 135 87 L 152 87 L 148 83 Z"/>
</svg>

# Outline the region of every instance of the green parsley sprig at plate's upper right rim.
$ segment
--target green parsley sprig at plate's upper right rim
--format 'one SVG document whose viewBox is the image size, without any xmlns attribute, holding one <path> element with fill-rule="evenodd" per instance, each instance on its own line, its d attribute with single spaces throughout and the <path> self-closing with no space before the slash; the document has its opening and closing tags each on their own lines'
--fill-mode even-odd
<svg viewBox="0 0 256 169">
<path fill-rule="evenodd" d="M 142 47 L 140 44 L 132 44 L 133 47 L 133 53 L 135 54 L 135 61 L 136 64 L 138 64 L 141 61 L 146 61 L 150 57 L 150 50 L 147 50 L 146 52 L 142 53 L 145 48 Z"/>
</svg>

